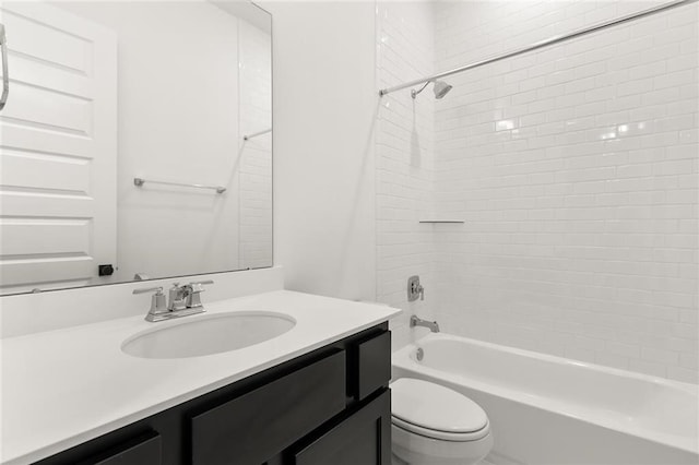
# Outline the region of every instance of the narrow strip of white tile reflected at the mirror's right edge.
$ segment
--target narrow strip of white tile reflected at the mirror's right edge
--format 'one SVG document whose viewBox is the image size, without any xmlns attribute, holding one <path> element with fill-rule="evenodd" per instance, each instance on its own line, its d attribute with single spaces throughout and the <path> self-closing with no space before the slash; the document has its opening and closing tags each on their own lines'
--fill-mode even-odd
<svg viewBox="0 0 699 465">
<path fill-rule="evenodd" d="M 272 37 L 245 21 L 238 35 L 240 134 L 272 128 Z M 272 265 L 272 133 L 240 141 L 240 267 Z"/>
</svg>

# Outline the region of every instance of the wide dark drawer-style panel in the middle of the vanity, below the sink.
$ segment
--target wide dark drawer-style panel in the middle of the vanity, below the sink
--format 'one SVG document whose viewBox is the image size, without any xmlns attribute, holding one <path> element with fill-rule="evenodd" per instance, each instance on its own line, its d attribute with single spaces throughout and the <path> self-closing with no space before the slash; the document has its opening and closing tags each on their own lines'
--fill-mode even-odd
<svg viewBox="0 0 699 465">
<path fill-rule="evenodd" d="M 259 465 L 345 408 L 345 351 L 191 418 L 193 465 Z"/>
</svg>

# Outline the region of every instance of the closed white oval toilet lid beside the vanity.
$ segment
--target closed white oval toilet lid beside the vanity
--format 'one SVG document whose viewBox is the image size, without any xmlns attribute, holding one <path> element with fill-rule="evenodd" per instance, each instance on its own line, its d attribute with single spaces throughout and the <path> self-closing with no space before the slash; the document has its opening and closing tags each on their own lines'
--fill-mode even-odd
<svg viewBox="0 0 699 465">
<path fill-rule="evenodd" d="M 454 390 L 414 378 L 391 383 L 391 414 L 403 421 L 445 432 L 473 432 L 488 417 L 478 404 Z"/>
</svg>

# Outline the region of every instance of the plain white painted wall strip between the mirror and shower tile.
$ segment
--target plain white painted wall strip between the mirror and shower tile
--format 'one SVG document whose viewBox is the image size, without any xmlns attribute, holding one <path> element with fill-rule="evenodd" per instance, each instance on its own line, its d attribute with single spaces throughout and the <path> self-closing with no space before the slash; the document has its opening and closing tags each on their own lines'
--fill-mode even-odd
<svg viewBox="0 0 699 465">
<path fill-rule="evenodd" d="M 271 2 L 274 262 L 286 287 L 375 299 L 375 5 Z"/>
</svg>

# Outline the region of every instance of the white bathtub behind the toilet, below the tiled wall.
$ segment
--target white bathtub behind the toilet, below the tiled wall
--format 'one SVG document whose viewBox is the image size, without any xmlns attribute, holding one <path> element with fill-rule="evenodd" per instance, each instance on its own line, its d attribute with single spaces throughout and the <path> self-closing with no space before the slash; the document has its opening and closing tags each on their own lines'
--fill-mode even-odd
<svg viewBox="0 0 699 465">
<path fill-rule="evenodd" d="M 478 403 L 495 436 L 494 464 L 699 463 L 694 384 L 446 334 L 393 354 L 393 378 L 406 377 Z"/>
</svg>

